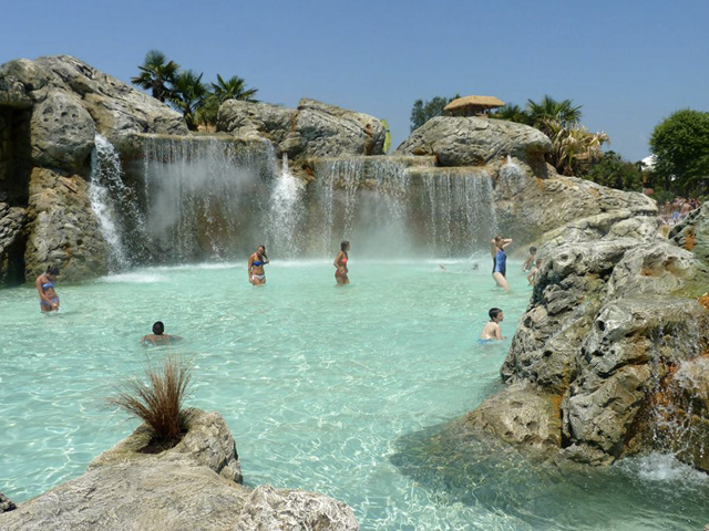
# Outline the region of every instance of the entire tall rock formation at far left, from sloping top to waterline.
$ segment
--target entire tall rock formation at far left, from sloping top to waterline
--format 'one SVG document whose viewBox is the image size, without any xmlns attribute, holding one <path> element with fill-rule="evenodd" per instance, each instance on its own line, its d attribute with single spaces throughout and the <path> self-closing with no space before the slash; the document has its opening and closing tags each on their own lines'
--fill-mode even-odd
<svg viewBox="0 0 709 531">
<path fill-rule="evenodd" d="M 11 207 L 0 209 L 0 282 L 33 280 L 49 263 L 62 280 L 105 273 L 85 183 L 96 133 L 121 145 L 187 127 L 165 104 L 69 55 L 0 66 L 0 201 Z"/>
</svg>

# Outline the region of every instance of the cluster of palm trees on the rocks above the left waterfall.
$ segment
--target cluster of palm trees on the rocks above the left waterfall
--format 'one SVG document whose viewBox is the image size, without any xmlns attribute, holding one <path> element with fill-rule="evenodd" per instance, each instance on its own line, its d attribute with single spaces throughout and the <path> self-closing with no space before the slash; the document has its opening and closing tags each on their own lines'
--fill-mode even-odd
<svg viewBox="0 0 709 531">
<path fill-rule="evenodd" d="M 257 101 L 254 96 L 258 88 L 247 88 L 242 77 L 234 75 L 225 80 L 217 74 L 217 82 L 206 85 L 202 83 L 203 74 L 181 71 L 177 63 L 167 61 L 158 50 L 147 52 L 138 70 L 141 74 L 131 77 L 131 82 L 179 111 L 193 131 L 198 125 L 214 126 L 219 105 L 227 100 Z"/>
</svg>

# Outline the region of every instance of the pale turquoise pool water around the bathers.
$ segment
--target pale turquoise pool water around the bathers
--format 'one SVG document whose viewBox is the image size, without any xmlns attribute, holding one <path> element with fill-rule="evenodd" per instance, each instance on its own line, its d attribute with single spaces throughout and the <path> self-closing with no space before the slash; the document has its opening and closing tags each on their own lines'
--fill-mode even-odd
<svg viewBox="0 0 709 531">
<path fill-rule="evenodd" d="M 514 452 L 427 446 L 431 434 L 501 388 L 499 368 L 530 296 L 511 262 L 506 294 L 490 258 L 350 261 L 336 288 L 328 261 L 278 262 L 253 288 L 246 263 L 153 268 L 58 285 L 41 315 L 30 287 L 0 291 L 0 491 L 14 501 L 80 476 L 136 421 L 105 406 L 142 373 L 138 340 L 162 320 L 185 336 L 189 405 L 218 410 L 247 485 L 320 491 L 361 529 L 700 529 L 705 475 L 669 456 L 608 471 L 562 471 Z M 502 344 L 476 340 L 505 312 Z"/>
</svg>

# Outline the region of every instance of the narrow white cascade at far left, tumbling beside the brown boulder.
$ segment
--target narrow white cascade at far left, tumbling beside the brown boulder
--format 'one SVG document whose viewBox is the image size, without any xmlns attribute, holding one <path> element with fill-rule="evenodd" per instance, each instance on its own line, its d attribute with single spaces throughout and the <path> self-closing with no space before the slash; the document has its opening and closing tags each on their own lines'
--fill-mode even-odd
<svg viewBox="0 0 709 531">
<path fill-rule="evenodd" d="M 130 196 L 122 179 L 123 171 L 117 152 L 103 136 L 96 135 L 91 153 L 89 199 L 99 219 L 101 233 L 109 244 L 111 271 L 120 271 L 130 266 L 119 220 L 119 210 Z"/>
</svg>

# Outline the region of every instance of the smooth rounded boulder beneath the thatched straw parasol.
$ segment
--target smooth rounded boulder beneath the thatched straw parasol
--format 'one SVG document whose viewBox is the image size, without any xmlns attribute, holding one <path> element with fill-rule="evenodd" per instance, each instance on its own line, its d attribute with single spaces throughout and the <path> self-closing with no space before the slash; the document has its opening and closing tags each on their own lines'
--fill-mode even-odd
<svg viewBox="0 0 709 531">
<path fill-rule="evenodd" d="M 548 137 L 527 125 L 487 117 L 436 116 L 394 153 L 434 156 L 440 166 L 483 166 L 511 156 L 536 167 L 551 149 Z"/>
</svg>

